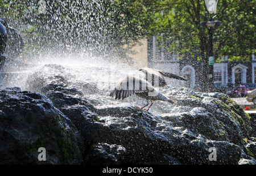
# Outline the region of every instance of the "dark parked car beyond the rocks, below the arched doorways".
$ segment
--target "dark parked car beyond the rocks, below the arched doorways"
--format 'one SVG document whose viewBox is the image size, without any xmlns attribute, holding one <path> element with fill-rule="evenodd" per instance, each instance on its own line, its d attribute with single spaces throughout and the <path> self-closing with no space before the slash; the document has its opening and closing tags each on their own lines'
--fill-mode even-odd
<svg viewBox="0 0 256 176">
<path fill-rule="evenodd" d="M 226 92 L 226 95 L 229 97 L 245 97 L 247 95 L 248 91 L 251 91 L 252 89 L 256 88 L 256 84 L 249 83 L 244 85 L 238 85 L 237 87 L 230 89 Z"/>
</svg>

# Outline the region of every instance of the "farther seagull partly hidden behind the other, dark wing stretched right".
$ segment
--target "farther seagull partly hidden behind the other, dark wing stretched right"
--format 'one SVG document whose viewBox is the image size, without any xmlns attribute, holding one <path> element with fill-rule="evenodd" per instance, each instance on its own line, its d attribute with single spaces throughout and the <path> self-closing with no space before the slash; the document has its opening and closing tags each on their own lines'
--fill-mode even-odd
<svg viewBox="0 0 256 176">
<path fill-rule="evenodd" d="M 178 75 L 171 74 L 170 72 L 160 71 L 153 68 L 141 68 L 139 71 L 142 71 L 145 74 L 145 80 L 151 83 L 153 87 L 164 87 L 167 85 L 166 80 L 164 80 L 164 76 L 168 78 L 174 78 L 179 79 L 183 81 L 187 81 L 187 79 L 184 79 Z M 158 81 L 158 83 L 157 83 Z M 156 83 L 156 85 L 155 85 Z"/>
</svg>

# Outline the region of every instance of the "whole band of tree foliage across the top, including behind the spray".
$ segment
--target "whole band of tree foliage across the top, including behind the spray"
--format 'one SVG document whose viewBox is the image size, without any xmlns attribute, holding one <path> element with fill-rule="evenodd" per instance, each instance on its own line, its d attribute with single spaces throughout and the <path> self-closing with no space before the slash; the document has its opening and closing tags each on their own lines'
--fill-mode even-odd
<svg viewBox="0 0 256 176">
<path fill-rule="evenodd" d="M 1 17 L 22 30 L 33 50 L 70 46 L 108 53 L 165 33 L 159 40 L 168 41 L 170 54 L 208 55 L 208 30 L 200 23 L 210 15 L 202 0 L 47 0 L 46 14 L 39 13 L 39 0 L 2 0 L 0 7 Z M 220 0 L 213 19 L 222 21 L 214 30 L 216 58 L 246 60 L 254 53 L 255 0 Z"/>
</svg>

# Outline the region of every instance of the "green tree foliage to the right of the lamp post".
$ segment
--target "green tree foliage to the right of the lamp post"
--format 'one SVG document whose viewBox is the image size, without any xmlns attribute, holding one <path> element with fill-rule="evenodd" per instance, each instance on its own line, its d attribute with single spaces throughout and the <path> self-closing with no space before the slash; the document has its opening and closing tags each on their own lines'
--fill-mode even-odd
<svg viewBox="0 0 256 176">
<path fill-rule="evenodd" d="M 223 23 L 216 30 L 218 55 L 245 61 L 255 51 L 255 1 L 220 1 L 217 18 Z"/>
</svg>

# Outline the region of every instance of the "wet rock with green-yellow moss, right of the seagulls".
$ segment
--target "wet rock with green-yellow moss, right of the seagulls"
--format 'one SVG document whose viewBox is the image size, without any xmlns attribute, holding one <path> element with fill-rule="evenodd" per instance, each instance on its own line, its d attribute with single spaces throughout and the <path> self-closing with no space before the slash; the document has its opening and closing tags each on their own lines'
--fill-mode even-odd
<svg viewBox="0 0 256 176">
<path fill-rule="evenodd" d="M 170 116 L 175 126 L 187 127 L 211 140 L 224 140 L 243 145 L 244 136 L 250 136 L 250 119 L 241 106 L 223 93 L 200 93 L 186 91 L 167 91 L 175 97 L 179 105 L 192 106 L 193 109 L 179 115 Z M 191 93 L 190 95 L 188 93 Z"/>
</svg>

